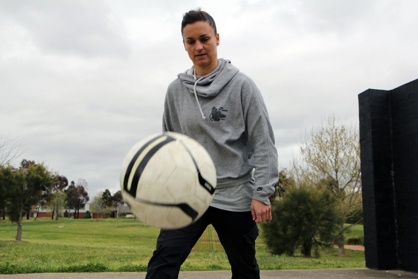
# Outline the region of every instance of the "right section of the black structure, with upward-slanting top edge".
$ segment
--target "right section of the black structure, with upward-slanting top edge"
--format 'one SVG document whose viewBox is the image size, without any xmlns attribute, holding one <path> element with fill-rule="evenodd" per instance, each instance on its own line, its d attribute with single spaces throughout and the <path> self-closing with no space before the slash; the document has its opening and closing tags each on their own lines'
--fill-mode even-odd
<svg viewBox="0 0 418 279">
<path fill-rule="evenodd" d="M 418 80 L 391 91 L 399 268 L 418 271 Z"/>
</svg>

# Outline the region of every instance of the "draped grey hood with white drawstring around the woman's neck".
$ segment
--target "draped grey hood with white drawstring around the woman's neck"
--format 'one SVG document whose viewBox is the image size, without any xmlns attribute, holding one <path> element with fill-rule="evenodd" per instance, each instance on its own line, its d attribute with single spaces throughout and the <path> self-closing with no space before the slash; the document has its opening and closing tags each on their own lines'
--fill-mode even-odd
<svg viewBox="0 0 418 279">
<path fill-rule="evenodd" d="M 190 93 L 199 97 L 216 96 L 222 88 L 239 72 L 240 70 L 231 64 L 231 61 L 223 58 L 218 59 L 218 66 L 209 74 L 198 77 L 194 73 L 194 66 L 180 73 L 177 77 L 183 82 Z M 197 98 L 197 97 L 196 97 Z"/>
</svg>

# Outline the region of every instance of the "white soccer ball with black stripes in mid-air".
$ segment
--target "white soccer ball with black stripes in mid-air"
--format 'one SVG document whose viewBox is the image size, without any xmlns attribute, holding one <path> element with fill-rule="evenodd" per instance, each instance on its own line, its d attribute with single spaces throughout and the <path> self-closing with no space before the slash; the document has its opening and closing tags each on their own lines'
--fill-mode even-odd
<svg viewBox="0 0 418 279">
<path fill-rule="evenodd" d="M 132 213 L 163 229 L 185 227 L 212 201 L 216 170 L 208 151 L 192 138 L 163 132 L 138 142 L 120 175 L 122 197 Z"/>
</svg>

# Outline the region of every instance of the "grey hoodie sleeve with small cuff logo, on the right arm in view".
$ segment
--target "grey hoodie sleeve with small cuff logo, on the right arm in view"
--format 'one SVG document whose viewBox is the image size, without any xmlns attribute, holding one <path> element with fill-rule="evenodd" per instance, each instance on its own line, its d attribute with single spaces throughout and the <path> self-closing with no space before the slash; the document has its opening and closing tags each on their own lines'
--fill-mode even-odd
<svg viewBox="0 0 418 279">
<path fill-rule="evenodd" d="M 253 198 L 270 204 L 269 197 L 279 179 L 277 149 L 267 107 L 256 84 L 248 78 L 241 89 L 248 144 L 253 152 Z"/>
</svg>

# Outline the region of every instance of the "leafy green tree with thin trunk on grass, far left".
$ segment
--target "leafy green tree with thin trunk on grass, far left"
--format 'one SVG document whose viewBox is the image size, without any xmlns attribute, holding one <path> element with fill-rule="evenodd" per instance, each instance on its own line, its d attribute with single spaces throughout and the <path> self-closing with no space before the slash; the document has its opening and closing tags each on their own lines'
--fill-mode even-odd
<svg viewBox="0 0 418 279">
<path fill-rule="evenodd" d="M 16 240 L 22 239 L 22 216 L 29 213 L 32 205 L 47 200 L 50 195 L 53 177 L 44 164 L 23 160 L 20 168 L 2 168 L 3 182 L 7 188 L 8 213 L 17 222 Z"/>
</svg>

